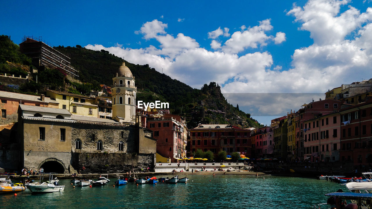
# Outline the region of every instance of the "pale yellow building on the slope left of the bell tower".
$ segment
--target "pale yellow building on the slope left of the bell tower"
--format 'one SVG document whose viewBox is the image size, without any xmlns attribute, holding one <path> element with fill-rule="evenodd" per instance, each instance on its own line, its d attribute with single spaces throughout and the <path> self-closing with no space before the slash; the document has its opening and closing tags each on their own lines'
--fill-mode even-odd
<svg viewBox="0 0 372 209">
<path fill-rule="evenodd" d="M 59 109 L 67 109 L 73 115 L 98 118 L 95 98 L 53 90 L 47 90 L 46 94 L 59 103 Z"/>
</svg>

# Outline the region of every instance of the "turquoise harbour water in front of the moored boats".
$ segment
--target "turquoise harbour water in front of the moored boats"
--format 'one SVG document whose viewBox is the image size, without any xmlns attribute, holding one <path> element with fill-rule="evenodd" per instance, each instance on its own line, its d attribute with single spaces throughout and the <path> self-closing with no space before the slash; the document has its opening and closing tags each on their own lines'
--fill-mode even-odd
<svg viewBox="0 0 372 209">
<path fill-rule="evenodd" d="M 158 176 L 161 177 L 161 176 Z M 183 177 L 183 176 L 180 176 Z M 99 187 L 76 187 L 60 180 L 63 192 L 33 194 L 26 190 L 0 195 L 0 208 L 254 208 L 307 209 L 325 203 L 325 193 L 346 191 L 337 183 L 305 178 L 263 176 L 216 177 L 189 175 L 187 184 L 128 183 L 115 186 L 115 179 Z M 242 179 L 242 180 L 241 180 Z M 211 181 L 209 181 L 211 180 Z"/>
</svg>

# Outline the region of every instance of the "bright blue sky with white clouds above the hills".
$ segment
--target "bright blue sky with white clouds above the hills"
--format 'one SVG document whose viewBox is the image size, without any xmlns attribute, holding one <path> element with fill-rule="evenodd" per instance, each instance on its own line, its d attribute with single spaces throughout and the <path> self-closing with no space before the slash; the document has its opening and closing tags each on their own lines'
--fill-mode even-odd
<svg viewBox="0 0 372 209">
<path fill-rule="evenodd" d="M 372 0 L 6 1 L 0 32 L 105 49 L 197 89 L 214 81 L 264 125 L 372 78 Z"/>
</svg>

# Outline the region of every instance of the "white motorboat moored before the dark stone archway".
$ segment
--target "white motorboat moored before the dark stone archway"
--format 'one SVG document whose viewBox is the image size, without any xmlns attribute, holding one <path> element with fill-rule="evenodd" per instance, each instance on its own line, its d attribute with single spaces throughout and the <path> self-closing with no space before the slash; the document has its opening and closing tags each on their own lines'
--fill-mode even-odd
<svg viewBox="0 0 372 209">
<path fill-rule="evenodd" d="M 35 193 L 49 193 L 49 192 L 60 192 L 65 189 L 65 186 L 60 186 L 58 181 L 54 181 L 54 183 L 51 183 L 53 180 L 53 175 L 57 173 L 43 173 L 40 175 L 40 180 L 37 183 L 26 183 L 27 189 L 29 189 L 31 192 Z M 44 175 L 49 175 L 49 180 L 46 182 L 43 182 Z"/>
</svg>

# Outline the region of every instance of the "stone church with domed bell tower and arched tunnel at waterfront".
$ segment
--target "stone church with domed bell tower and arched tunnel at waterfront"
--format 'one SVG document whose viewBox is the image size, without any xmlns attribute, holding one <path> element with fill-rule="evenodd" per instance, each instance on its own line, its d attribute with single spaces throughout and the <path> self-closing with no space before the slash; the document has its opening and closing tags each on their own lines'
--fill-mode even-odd
<svg viewBox="0 0 372 209">
<path fill-rule="evenodd" d="M 139 126 L 135 79 L 123 63 L 113 78 L 112 119 L 72 115 L 66 109 L 19 105 L 20 167 L 44 172 L 121 173 L 153 168 L 156 139 Z M 23 154 L 22 154 L 23 153 Z"/>
</svg>

